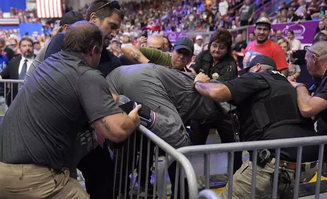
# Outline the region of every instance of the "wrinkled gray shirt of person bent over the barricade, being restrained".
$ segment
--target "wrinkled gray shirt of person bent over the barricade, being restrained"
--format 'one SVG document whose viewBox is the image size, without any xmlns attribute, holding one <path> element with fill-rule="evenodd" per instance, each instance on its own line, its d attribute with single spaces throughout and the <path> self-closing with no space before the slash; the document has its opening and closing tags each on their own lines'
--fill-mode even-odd
<svg viewBox="0 0 327 199">
<path fill-rule="evenodd" d="M 221 112 L 193 86 L 196 74 L 152 63 L 125 65 L 107 76 L 109 89 L 143 103 L 158 114 L 154 134 L 175 148 L 189 145 L 183 122 L 217 119 Z"/>
</svg>

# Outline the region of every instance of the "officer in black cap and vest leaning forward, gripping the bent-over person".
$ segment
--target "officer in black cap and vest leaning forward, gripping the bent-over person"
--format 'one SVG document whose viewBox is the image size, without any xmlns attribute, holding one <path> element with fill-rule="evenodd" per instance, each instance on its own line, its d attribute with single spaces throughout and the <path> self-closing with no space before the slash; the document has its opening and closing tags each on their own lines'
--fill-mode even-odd
<svg viewBox="0 0 327 199">
<path fill-rule="evenodd" d="M 265 55 L 254 57 L 240 78 L 223 83 L 212 83 L 200 73 L 194 80 L 195 89 L 202 95 L 218 102 L 230 102 L 237 107 L 240 132 L 244 141 L 274 140 L 315 136 L 313 122 L 304 118 L 298 108 L 297 93 L 287 78 L 276 70 L 275 61 Z M 208 83 L 205 83 L 208 82 Z M 316 171 L 318 147 L 304 147 L 302 154 L 303 179 L 312 179 Z M 258 152 L 255 195 L 272 193 L 271 177 L 274 172 L 275 150 Z M 252 154 L 233 177 L 233 198 L 244 198 L 251 194 Z M 297 148 L 282 148 L 280 153 L 281 174 L 286 180 L 279 181 L 284 194 L 292 187 L 297 167 Z M 284 168 L 284 170 L 282 170 Z M 284 173 L 282 172 L 284 171 Z M 231 182 L 228 182 L 231 183 Z M 227 198 L 228 185 L 221 192 Z M 232 191 L 232 190 L 231 190 Z"/>
</svg>

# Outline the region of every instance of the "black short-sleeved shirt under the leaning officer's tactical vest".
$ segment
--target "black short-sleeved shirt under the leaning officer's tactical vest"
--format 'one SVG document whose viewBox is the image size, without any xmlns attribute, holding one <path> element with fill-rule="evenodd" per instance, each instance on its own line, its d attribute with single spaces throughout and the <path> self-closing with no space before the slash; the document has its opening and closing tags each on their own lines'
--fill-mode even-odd
<svg viewBox="0 0 327 199">
<path fill-rule="evenodd" d="M 267 71 L 262 73 L 267 73 Z M 251 105 L 253 105 L 255 102 L 262 101 L 267 97 L 270 97 L 271 89 L 269 83 L 257 73 L 247 73 L 239 78 L 236 78 L 235 80 L 226 81 L 222 84 L 227 86 L 231 91 L 233 101 L 230 103 L 237 107 L 237 113 L 248 115 L 247 117 L 239 117 L 239 119 L 250 118 L 252 115 Z M 289 83 L 285 81 L 285 84 Z M 288 89 L 293 89 L 290 84 L 285 86 Z M 266 131 L 256 128 L 256 123 L 253 121 L 253 124 L 250 125 L 250 128 L 253 129 L 253 131 L 251 131 L 250 134 L 243 135 L 244 141 L 275 140 L 316 136 L 313 125 L 306 124 L 285 124 Z M 241 134 L 243 134 L 242 126 Z M 317 147 L 304 147 L 302 162 L 317 160 L 318 151 L 319 150 Z M 296 162 L 297 148 L 295 147 L 281 149 L 280 159 Z"/>
</svg>

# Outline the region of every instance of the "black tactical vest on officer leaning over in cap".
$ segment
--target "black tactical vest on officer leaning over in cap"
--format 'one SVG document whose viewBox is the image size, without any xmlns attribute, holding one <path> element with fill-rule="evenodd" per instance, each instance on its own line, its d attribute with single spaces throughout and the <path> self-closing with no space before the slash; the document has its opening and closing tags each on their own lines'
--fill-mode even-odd
<svg viewBox="0 0 327 199">
<path fill-rule="evenodd" d="M 270 89 L 260 91 L 249 98 L 246 106 L 237 109 L 240 131 L 244 141 L 259 140 L 262 132 L 285 124 L 310 124 L 298 108 L 296 89 L 279 71 L 254 74 L 266 80 Z M 263 92 L 268 94 L 263 98 Z M 254 135 L 254 131 L 258 132 Z M 285 132 L 287 133 L 287 132 Z"/>
</svg>

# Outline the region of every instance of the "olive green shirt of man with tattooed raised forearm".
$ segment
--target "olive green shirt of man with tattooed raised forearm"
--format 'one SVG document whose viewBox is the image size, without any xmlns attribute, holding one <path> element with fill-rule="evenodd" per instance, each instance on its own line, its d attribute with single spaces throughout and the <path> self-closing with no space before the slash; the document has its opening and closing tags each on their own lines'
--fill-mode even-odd
<svg viewBox="0 0 327 199">
<path fill-rule="evenodd" d="M 161 50 L 155 48 L 144 48 L 144 47 L 140 47 L 140 51 L 146 58 L 148 58 L 150 61 L 152 61 L 155 64 L 164 65 L 167 67 L 173 67 L 172 56 L 167 52 L 162 52 Z"/>
</svg>

